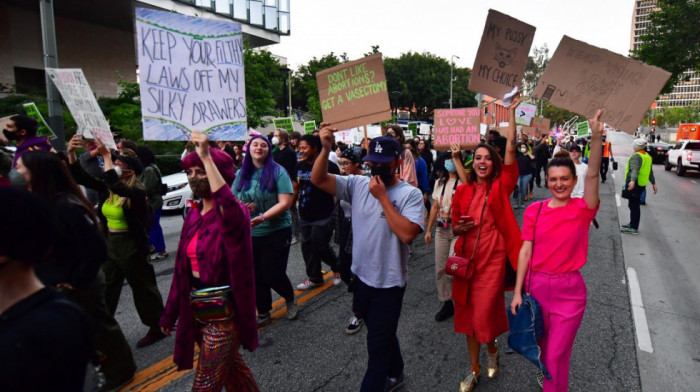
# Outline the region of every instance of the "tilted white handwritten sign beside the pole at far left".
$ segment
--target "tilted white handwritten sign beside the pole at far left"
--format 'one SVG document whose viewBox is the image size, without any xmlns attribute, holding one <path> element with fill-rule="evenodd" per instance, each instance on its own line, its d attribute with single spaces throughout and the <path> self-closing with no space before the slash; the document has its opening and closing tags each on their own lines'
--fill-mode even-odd
<svg viewBox="0 0 700 392">
<path fill-rule="evenodd" d="M 80 68 L 46 68 L 46 73 L 61 93 L 68 105 L 75 123 L 78 124 L 78 134 L 87 139 L 98 139 L 107 148 L 117 148 L 114 143 L 109 123 L 97 104 L 95 94 L 85 79 Z"/>
</svg>

